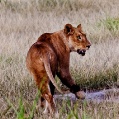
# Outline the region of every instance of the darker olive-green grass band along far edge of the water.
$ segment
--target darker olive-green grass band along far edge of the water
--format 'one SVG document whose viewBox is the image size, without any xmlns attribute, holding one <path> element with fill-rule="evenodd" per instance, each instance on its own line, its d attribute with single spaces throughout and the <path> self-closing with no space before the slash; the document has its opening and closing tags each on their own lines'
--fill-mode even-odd
<svg viewBox="0 0 119 119">
<path fill-rule="evenodd" d="M 99 90 L 103 88 L 111 88 L 114 85 L 116 86 L 116 82 L 118 81 L 118 70 L 119 67 L 116 65 L 95 74 L 91 71 L 87 74 L 80 70 L 76 72 L 75 69 L 72 68 L 71 74 L 82 89 Z"/>
</svg>

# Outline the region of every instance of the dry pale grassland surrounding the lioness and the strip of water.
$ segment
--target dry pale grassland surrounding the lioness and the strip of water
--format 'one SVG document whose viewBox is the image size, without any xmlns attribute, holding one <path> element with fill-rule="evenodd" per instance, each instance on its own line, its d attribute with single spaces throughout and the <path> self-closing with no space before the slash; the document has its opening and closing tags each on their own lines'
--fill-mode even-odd
<svg viewBox="0 0 119 119">
<path fill-rule="evenodd" d="M 1 119 L 48 118 L 41 108 L 35 109 L 38 91 L 25 58 L 42 33 L 58 31 L 67 23 L 81 23 L 92 43 L 84 57 L 71 54 L 76 82 L 86 90 L 118 87 L 119 0 L 0 0 Z M 118 102 L 56 102 L 59 119 L 119 118 Z"/>
</svg>

